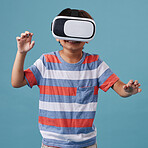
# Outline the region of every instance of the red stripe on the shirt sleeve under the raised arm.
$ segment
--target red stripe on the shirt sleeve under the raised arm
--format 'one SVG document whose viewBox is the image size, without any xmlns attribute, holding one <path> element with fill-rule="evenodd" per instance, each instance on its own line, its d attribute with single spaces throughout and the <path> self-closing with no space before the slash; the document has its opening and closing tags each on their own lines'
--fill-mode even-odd
<svg viewBox="0 0 148 148">
<path fill-rule="evenodd" d="M 37 85 L 37 80 L 33 74 L 33 72 L 28 68 L 24 70 L 25 77 L 27 78 L 29 85 L 32 87 L 33 85 Z"/>
</svg>

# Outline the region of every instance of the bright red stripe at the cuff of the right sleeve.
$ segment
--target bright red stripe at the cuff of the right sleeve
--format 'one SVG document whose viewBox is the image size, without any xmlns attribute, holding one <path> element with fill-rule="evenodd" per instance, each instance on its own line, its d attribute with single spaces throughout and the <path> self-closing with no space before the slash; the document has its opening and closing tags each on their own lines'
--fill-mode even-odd
<svg viewBox="0 0 148 148">
<path fill-rule="evenodd" d="M 114 73 L 100 86 L 103 91 L 107 91 L 119 78 Z"/>
</svg>

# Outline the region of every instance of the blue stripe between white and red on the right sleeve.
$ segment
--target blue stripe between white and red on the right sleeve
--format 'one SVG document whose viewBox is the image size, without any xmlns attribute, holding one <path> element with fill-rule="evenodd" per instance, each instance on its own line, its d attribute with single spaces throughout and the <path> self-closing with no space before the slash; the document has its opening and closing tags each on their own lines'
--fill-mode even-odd
<svg viewBox="0 0 148 148">
<path fill-rule="evenodd" d="M 108 68 L 99 78 L 99 87 L 113 74 L 110 68 Z"/>
</svg>

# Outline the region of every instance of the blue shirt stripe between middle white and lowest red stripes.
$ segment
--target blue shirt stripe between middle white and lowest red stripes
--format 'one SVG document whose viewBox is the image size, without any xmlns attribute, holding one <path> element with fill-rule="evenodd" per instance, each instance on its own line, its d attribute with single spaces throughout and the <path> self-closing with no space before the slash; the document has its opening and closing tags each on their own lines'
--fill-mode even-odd
<svg viewBox="0 0 148 148">
<path fill-rule="evenodd" d="M 39 110 L 39 116 L 48 117 L 52 119 L 94 119 L 95 111 L 85 112 L 65 112 L 65 111 L 46 111 Z"/>
</svg>

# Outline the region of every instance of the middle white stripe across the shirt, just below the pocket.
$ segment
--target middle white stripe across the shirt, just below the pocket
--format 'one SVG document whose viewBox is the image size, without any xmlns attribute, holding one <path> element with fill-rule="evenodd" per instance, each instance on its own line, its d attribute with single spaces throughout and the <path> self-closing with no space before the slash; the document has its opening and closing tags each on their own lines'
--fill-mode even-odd
<svg viewBox="0 0 148 148">
<path fill-rule="evenodd" d="M 96 107 L 97 107 L 97 102 L 91 102 L 88 104 L 78 104 L 78 103 L 39 101 L 39 109 L 47 111 L 68 111 L 68 112 L 96 111 Z"/>
</svg>

